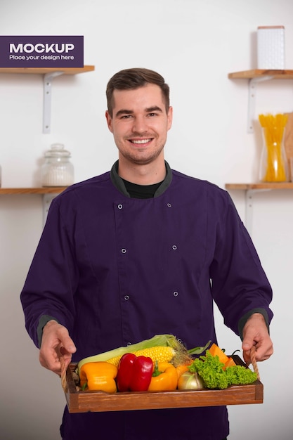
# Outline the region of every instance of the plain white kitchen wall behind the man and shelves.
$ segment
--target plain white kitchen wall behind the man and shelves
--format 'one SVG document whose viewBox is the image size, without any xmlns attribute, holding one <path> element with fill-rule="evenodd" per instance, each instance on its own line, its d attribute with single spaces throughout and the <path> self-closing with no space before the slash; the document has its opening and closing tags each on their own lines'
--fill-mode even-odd
<svg viewBox="0 0 293 440">
<path fill-rule="evenodd" d="M 171 167 L 223 187 L 257 178 L 260 134 L 247 134 L 247 81 L 228 72 L 256 67 L 256 28 L 284 25 L 286 67 L 293 69 L 291 0 L 1 0 L 2 35 L 84 35 L 85 64 L 96 71 L 53 81 L 52 130 L 42 134 L 42 78 L 0 75 L 3 187 L 38 186 L 53 142 L 72 152 L 76 181 L 108 170 L 117 151 L 105 124 L 105 85 L 117 70 L 149 67 L 171 86 Z M 261 83 L 256 115 L 293 111 L 293 82 Z M 243 192 L 231 191 L 242 218 Z M 252 238 L 273 285 L 275 354 L 261 363 L 264 403 L 230 407 L 231 439 L 293 438 L 292 191 L 258 193 Z M 65 404 L 56 375 L 39 366 L 19 301 L 42 228 L 40 195 L 0 196 L 0 437 L 56 440 Z M 219 343 L 240 340 L 216 312 Z"/>
</svg>

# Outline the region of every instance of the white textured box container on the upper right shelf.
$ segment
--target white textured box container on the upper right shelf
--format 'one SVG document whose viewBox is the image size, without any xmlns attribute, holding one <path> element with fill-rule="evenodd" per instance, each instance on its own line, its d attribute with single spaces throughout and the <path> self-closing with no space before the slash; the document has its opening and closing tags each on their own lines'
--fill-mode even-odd
<svg viewBox="0 0 293 440">
<path fill-rule="evenodd" d="M 285 27 L 257 28 L 257 68 L 285 70 Z"/>
</svg>

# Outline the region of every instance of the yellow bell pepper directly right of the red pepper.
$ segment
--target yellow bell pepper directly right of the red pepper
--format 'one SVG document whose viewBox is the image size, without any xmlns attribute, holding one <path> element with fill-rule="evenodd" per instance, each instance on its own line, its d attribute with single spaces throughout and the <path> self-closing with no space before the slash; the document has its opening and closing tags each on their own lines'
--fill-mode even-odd
<svg viewBox="0 0 293 440">
<path fill-rule="evenodd" d="M 172 391 L 177 388 L 178 374 L 171 363 L 159 362 L 154 370 L 148 391 Z"/>
</svg>

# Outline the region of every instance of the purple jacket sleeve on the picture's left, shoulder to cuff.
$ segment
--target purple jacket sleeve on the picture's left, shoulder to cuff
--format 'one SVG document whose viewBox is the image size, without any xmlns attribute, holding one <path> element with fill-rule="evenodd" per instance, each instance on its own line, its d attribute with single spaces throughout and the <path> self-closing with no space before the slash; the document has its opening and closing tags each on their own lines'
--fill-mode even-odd
<svg viewBox="0 0 293 440">
<path fill-rule="evenodd" d="M 51 203 L 44 231 L 20 294 L 25 327 L 37 347 L 41 341 L 42 327 L 48 321 L 46 316 L 65 325 L 69 332 L 72 330 L 75 314 L 73 297 L 77 283 L 78 269 L 72 237 L 63 224 L 57 197 Z"/>
</svg>

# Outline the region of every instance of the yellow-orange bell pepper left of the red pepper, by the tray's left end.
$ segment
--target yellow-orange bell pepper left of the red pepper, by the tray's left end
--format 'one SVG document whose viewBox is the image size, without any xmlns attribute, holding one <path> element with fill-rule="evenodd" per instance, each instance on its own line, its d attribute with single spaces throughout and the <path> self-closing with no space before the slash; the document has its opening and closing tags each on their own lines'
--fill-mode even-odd
<svg viewBox="0 0 293 440">
<path fill-rule="evenodd" d="M 89 391 L 117 392 L 118 368 L 108 362 L 88 362 L 79 370 L 80 387 Z"/>
</svg>

